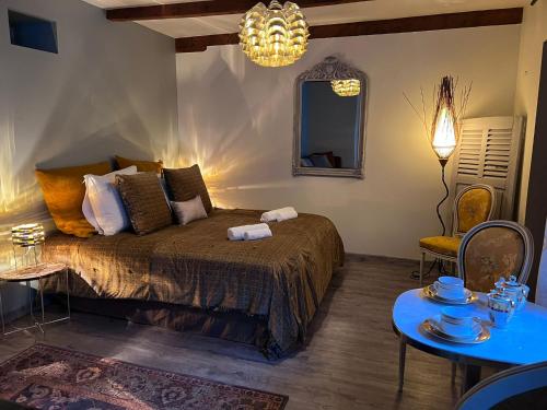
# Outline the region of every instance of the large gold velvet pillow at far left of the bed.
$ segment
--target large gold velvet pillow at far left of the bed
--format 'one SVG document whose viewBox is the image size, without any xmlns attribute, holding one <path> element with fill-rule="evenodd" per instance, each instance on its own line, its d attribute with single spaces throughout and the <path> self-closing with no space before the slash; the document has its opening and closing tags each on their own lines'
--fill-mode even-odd
<svg viewBox="0 0 547 410">
<path fill-rule="evenodd" d="M 59 231 L 79 237 L 93 235 L 95 229 L 85 220 L 82 212 L 85 195 L 83 176 L 104 175 L 110 171 L 108 162 L 57 169 L 36 169 L 44 200 Z"/>
</svg>

